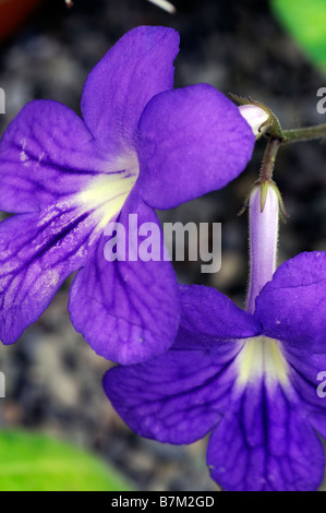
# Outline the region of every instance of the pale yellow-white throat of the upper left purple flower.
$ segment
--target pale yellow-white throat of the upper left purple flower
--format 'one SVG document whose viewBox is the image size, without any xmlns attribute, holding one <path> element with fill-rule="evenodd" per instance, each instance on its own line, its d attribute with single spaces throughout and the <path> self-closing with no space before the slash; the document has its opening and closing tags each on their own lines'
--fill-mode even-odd
<svg viewBox="0 0 326 513">
<path fill-rule="evenodd" d="M 140 174 L 136 156 L 119 158 L 114 168 L 123 169 L 102 172 L 93 178 L 76 195 L 83 211 L 95 217 L 96 230 L 102 230 L 120 213 Z"/>
</svg>

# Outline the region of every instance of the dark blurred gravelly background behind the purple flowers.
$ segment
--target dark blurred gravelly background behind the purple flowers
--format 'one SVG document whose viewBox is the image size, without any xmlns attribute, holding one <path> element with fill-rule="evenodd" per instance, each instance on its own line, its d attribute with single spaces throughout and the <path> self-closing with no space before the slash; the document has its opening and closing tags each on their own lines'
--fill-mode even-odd
<svg viewBox="0 0 326 513">
<path fill-rule="evenodd" d="M 0 0 L 0 9 L 5 2 Z M 176 87 L 208 82 L 226 94 L 251 96 L 274 109 L 283 128 L 325 122 L 316 110 L 325 80 L 278 25 L 267 1 L 173 3 L 171 16 L 146 0 L 75 0 L 71 9 L 64 0 L 44 0 L 11 32 L 2 19 L 0 87 L 7 114 L 0 115 L 0 134 L 35 98 L 56 99 L 79 112 L 87 73 L 126 31 L 144 24 L 180 32 Z M 217 287 L 239 306 L 247 279 L 247 227 L 246 215 L 237 213 L 257 178 L 264 145 L 257 143 L 245 172 L 226 189 L 161 214 L 169 222 L 222 224 L 218 273 L 201 274 L 200 262 L 179 262 L 176 270 L 181 282 Z M 275 179 L 289 214 L 280 229 L 279 263 L 301 251 L 326 250 L 325 157 L 319 142 L 279 153 Z M 15 345 L 0 347 L 7 378 L 3 426 L 43 430 L 90 449 L 142 490 L 217 490 L 205 466 L 205 441 L 161 445 L 133 434 L 114 414 L 101 390 L 109 365 L 70 324 L 68 290 L 69 283 Z"/>
</svg>

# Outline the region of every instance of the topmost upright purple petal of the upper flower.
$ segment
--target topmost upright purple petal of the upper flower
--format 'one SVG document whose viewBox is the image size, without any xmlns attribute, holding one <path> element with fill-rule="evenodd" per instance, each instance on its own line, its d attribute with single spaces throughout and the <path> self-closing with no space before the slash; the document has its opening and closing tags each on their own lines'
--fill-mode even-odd
<svg viewBox="0 0 326 513">
<path fill-rule="evenodd" d="M 128 32 L 89 73 L 82 97 L 85 122 L 111 153 L 133 148 L 148 100 L 173 87 L 179 35 L 172 28 L 140 26 Z"/>
</svg>

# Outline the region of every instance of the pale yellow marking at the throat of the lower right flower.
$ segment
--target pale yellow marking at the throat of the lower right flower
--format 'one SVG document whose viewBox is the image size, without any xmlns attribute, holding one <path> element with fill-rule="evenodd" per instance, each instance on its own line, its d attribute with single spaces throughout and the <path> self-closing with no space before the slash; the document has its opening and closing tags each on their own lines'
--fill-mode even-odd
<svg viewBox="0 0 326 513">
<path fill-rule="evenodd" d="M 247 338 L 239 354 L 239 384 L 246 384 L 265 375 L 267 381 L 289 383 L 289 366 L 279 342 L 267 336 Z"/>
</svg>

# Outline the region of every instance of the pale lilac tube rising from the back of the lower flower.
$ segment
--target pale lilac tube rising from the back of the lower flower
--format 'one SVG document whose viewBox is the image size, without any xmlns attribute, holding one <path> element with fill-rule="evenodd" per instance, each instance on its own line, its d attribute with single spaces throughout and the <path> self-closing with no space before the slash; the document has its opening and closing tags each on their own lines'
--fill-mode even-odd
<svg viewBox="0 0 326 513">
<path fill-rule="evenodd" d="M 262 191 L 266 202 L 262 212 Z M 250 196 L 250 282 L 246 311 L 254 313 L 255 300 L 262 288 L 273 277 L 277 261 L 279 202 L 273 186 L 257 186 Z"/>
</svg>

